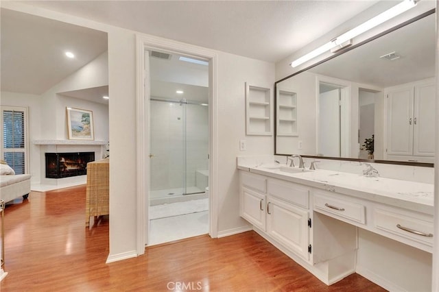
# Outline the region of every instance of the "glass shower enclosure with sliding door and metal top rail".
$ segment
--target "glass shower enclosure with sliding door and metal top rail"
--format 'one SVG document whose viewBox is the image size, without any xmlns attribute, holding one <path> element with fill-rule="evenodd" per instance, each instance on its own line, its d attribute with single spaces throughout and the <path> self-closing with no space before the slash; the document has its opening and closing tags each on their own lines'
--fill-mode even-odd
<svg viewBox="0 0 439 292">
<path fill-rule="evenodd" d="M 208 105 L 151 97 L 150 112 L 151 204 L 204 195 L 209 177 Z"/>
</svg>

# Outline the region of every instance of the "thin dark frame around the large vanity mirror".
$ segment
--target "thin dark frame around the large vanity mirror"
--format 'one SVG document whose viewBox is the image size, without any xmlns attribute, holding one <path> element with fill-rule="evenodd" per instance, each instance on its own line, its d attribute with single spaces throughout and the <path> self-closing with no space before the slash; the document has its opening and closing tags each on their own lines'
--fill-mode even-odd
<svg viewBox="0 0 439 292">
<path fill-rule="evenodd" d="M 320 60 L 319 62 L 316 62 L 315 64 L 311 64 L 310 66 L 307 66 L 304 69 L 301 69 L 297 71 L 296 73 L 293 73 L 292 75 L 288 75 L 287 77 L 283 77 L 281 80 L 278 80 L 274 82 L 274 94 L 277 93 L 277 84 L 279 82 L 283 82 L 284 80 L 289 79 L 290 77 L 293 77 L 295 75 L 298 75 L 300 73 L 303 73 L 305 71 L 308 71 L 309 69 L 318 66 L 324 62 L 327 62 L 333 58 L 336 58 L 337 56 L 342 55 L 343 53 L 346 53 L 348 51 L 351 51 L 357 47 L 360 47 L 368 42 L 371 42 L 372 40 L 376 40 L 377 38 L 380 38 L 381 36 L 385 36 L 386 34 L 390 34 L 390 32 L 394 32 L 396 29 L 400 29 L 401 27 L 405 27 L 406 25 L 410 25 L 410 23 L 414 23 L 415 21 L 418 21 L 419 19 L 423 19 L 426 16 L 429 16 L 431 14 L 436 13 L 436 8 L 431 9 L 427 12 L 424 12 L 423 14 L 419 14 L 418 16 L 415 16 L 412 19 L 409 19 L 408 21 L 405 21 L 403 23 L 400 23 L 399 25 L 396 25 L 390 29 L 387 29 L 376 36 L 372 36 L 371 38 L 368 38 L 366 40 L 363 40 L 356 45 L 352 45 L 350 47 L 347 47 L 346 49 L 342 49 L 338 51 L 337 53 L 333 54 L 333 56 L 329 56 L 328 58 L 325 58 L 324 60 Z M 276 96 L 274 97 L 274 121 L 277 121 L 277 113 L 276 113 Z M 281 154 L 277 153 L 277 125 L 276 122 L 274 123 L 274 155 L 280 155 L 280 156 L 290 156 L 292 154 Z M 360 159 L 360 158 L 342 158 L 342 157 L 329 157 L 329 156 L 312 156 L 312 155 L 301 155 L 305 158 L 318 158 L 318 159 L 329 159 L 329 160 L 345 160 L 345 161 L 357 161 L 357 162 L 371 162 L 371 163 L 383 163 L 383 164 L 389 164 L 389 165 L 410 165 L 414 167 L 434 167 L 434 163 L 427 163 L 427 162 L 408 162 L 408 161 L 395 161 L 395 160 L 370 160 L 370 159 Z"/>
</svg>

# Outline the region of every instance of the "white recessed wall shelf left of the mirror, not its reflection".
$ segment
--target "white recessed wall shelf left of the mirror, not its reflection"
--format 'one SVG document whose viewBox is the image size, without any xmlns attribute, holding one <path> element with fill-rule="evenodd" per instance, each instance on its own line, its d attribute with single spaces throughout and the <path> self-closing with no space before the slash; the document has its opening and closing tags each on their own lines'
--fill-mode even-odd
<svg viewBox="0 0 439 292">
<path fill-rule="evenodd" d="M 272 135 L 270 88 L 246 83 L 246 134 Z"/>
</svg>

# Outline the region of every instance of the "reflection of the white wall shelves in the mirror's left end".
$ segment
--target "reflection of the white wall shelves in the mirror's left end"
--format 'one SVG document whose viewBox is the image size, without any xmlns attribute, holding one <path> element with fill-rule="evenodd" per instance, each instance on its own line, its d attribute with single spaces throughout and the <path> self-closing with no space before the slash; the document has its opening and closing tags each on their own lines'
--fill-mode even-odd
<svg viewBox="0 0 439 292">
<path fill-rule="evenodd" d="M 298 136 L 297 93 L 277 90 L 276 130 L 278 136 Z"/>
</svg>

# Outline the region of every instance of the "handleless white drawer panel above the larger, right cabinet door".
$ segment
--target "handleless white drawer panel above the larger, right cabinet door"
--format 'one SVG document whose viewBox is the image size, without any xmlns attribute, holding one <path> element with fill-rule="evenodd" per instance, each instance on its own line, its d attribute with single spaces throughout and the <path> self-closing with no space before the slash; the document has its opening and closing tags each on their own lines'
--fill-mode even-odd
<svg viewBox="0 0 439 292">
<path fill-rule="evenodd" d="M 309 188 L 293 184 L 292 182 L 272 179 L 268 180 L 267 185 L 267 190 L 270 195 L 296 204 L 302 208 L 309 208 Z"/>
</svg>

